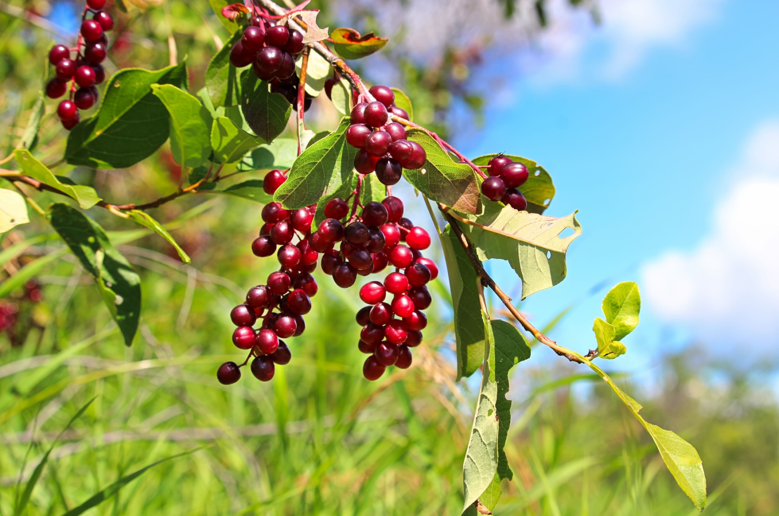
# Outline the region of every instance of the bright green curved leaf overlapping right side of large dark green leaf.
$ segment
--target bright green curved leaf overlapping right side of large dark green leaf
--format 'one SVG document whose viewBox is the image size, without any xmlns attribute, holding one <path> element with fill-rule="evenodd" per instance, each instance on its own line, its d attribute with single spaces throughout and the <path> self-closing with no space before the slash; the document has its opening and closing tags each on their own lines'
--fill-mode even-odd
<svg viewBox="0 0 779 516">
<path fill-rule="evenodd" d="M 211 114 L 203 104 L 171 84 L 152 84 L 171 115 L 171 153 L 178 164 L 195 168 L 211 155 Z"/>
</svg>

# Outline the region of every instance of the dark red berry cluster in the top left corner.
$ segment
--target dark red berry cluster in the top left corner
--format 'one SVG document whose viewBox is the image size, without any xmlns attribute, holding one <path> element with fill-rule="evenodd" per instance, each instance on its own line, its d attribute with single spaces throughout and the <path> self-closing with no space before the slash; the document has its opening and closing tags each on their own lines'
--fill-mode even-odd
<svg viewBox="0 0 779 516">
<path fill-rule="evenodd" d="M 102 10 L 105 2 L 86 0 L 76 48 L 57 44 L 49 51 L 49 62 L 54 65 L 56 76 L 46 84 L 46 95 L 59 98 L 70 90 L 69 98 L 57 106 L 57 116 L 68 130 L 79 123 L 79 109 L 89 109 L 97 103 L 96 85 L 105 80 L 100 65 L 108 52 L 105 33 L 114 28 L 114 19 Z M 87 18 L 90 14 L 92 17 Z M 75 59 L 71 58 L 71 51 L 76 52 Z"/>
</svg>

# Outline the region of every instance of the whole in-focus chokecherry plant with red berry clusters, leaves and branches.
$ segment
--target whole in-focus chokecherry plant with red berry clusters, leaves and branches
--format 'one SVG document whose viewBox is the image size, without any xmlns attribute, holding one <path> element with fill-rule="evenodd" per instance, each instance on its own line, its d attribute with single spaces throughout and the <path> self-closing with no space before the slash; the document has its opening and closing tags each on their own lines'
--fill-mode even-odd
<svg viewBox="0 0 779 516">
<path fill-rule="evenodd" d="M 646 422 L 641 406 L 595 362 L 626 352 L 621 341 L 638 323 L 637 286 L 621 283 L 608 292 L 605 319 L 594 322 L 597 347 L 580 354 L 534 327 L 482 265 L 507 260 L 521 279 L 523 299 L 564 279 L 566 251 L 581 228 L 575 214 L 543 214 L 555 195 L 548 172 L 512 154 L 470 160 L 415 124 L 411 101 L 401 90 L 368 87 L 344 61 L 370 55 L 386 40 L 347 28 L 329 34 L 316 25 L 317 12 L 306 10 L 306 3 L 294 9 L 271 0 L 225 5 L 217 16 L 229 22 L 225 25 L 233 27 L 233 34 L 211 59 L 206 87 L 196 96 L 189 94 L 185 63 L 157 71 L 122 69 L 107 81 L 97 111 L 80 120 L 78 110 L 97 102 L 96 85 L 104 80 L 104 33 L 113 25 L 101 10 L 103 0 L 88 0 L 76 46 L 51 49 L 56 77 L 44 87 L 19 146 L 4 160 L 16 160 L 15 167 L 0 174 L 21 195 L 0 189 L 10 215 L 0 221 L 0 230 L 27 221 L 27 204 L 46 217 L 96 280 L 130 345 L 139 324 L 139 275 L 83 210 L 97 206 L 135 221 L 170 242 L 188 263 L 189 256 L 146 210 L 192 193 L 258 201 L 263 224 L 247 247 L 259 257 L 275 254 L 279 267 L 251 286 L 229 314 L 236 327 L 232 342 L 247 355 L 240 364 L 222 364 L 217 380 L 235 383 L 249 365 L 253 376 L 269 381 L 276 366 L 291 362 L 294 345 L 283 339 L 305 333 L 304 316 L 319 291 L 312 275 L 318 267 L 337 287 L 354 288 L 365 302 L 355 316 L 361 330 L 355 329 L 354 337 L 367 355 L 362 374 L 379 380 L 390 366 L 412 365 L 412 349 L 422 344 L 428 322 L 424 310 L 432 303 L 428 283 L 439 277 L 436 263 L 422 255 L 432 245 L 431 235 L 404 217 L 404 201 L 393 195 L 393 186 L 405 178 L 420 193 L 446 259 L 458 379 L 482 373 L 465 451 L 464 513 L 491 514 L 500 483 L 512 478 L 503 453 L 511 420 L 506 393 L 509 369 L 530 356 L 525 332 L 601 376 L 650 433 L 679 486 L 703 510 L 706 482 L 696 450 L 675 433 Z M 150 203 L 110 203 L 38 160 L 33 153 L 43 96 L 58 98 L 68 90 L 69 99 L 57 108 L 70 131 L 61 163 L 126 168 L 170 140 L 182 168 L 179 188 Z M 332 131 L 314 134 L 305 127 L 305 111 L 322 93 L 344 118 Z M 279 138 L 293 110 L 297 138 Z M 139 130 L 143 138 L 137 137 Z M 222 186 L 225 178 L 252 171 L 266 172 L 262 180 Z M 68 196 L 80 210 L 69 203 L 43 210 L 23 186 Z M 571 234 L 563 237 L 566 230 Z M 355 285 L 358 277 L 367 279 Z M 9 281 L 23 285 L 26 279 L 20 272 Z M 506 306 L 511 323 L 492 319 L 485 288 Z"/>
</svg>

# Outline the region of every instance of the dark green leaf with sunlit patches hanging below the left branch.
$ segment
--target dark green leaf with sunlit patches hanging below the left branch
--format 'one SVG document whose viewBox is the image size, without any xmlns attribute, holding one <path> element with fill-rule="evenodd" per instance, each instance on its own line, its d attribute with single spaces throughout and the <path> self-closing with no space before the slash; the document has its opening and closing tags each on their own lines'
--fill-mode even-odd
<svg viewBox="0 0 779 516">
<path fill-rule="evenodd" d="M 65 203 L 54 203 L 48 211 L 52 227 L 97 281 L 108 311 L 122 330 L 125 345 L 132 345 L 141 309 L 139 275 L 97 222 Z"/>
</svg>

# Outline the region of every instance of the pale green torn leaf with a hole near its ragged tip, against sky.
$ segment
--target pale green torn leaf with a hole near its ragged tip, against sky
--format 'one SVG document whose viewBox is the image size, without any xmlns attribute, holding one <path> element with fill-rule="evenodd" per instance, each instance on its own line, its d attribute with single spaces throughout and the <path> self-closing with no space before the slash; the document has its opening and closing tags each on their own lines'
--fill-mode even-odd
<svg viewBox="0 0 779 516">
<path fill-rule="evenodd" d="M 481 214 L 462 215 L 478 226 L 460 224 L 479 260 L 508 260 L 522 278 L 522 299 L 565 279 L 566 251 L 581 234 L 575 213 L 555 218 L 501 207 L 499 203 L 483 204 Z M 559 238 L 566 228 L 573 228 L 573 233 Z"/>
</svg>

